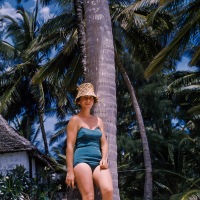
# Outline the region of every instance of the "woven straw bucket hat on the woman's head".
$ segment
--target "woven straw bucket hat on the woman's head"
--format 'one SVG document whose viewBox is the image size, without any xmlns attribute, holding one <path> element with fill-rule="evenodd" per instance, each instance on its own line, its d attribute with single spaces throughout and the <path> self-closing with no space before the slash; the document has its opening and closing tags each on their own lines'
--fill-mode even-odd
<svg viewBox="0 0 200 200">
<path fill-rule="evenodd" d="M 94 93 L 94 86 L 91 83 L 83 83 L 78 88 L 78 94 L 75 98 L 75 103 L 77 103 L 77 100 L 82 96 L 93 96 L 94 97 L 94 103 L 98 102 L 98 97 Z"/>
</svg>

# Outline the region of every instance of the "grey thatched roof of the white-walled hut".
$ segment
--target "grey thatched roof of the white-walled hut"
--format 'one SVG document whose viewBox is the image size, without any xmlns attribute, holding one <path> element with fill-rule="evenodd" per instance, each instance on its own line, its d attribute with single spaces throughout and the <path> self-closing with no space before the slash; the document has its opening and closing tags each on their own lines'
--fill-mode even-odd
<svg viewBox="0 0 200 200">
<path fill-rule="evenodd" d="M 30 141 L 20 136 L 0 115 L 0 154 L 19 151 L 28 151 L 33 157 L 53 168 L 50 157 L 39 152 Z"/>
</svg>

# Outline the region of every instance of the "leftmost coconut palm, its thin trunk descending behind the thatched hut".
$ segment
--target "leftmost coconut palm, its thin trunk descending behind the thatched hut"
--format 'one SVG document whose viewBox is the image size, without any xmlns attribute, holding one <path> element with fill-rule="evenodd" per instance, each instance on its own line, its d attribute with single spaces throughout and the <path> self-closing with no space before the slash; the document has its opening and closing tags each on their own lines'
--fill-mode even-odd
<svg viewBox="0 0 200 200">
<path fill-rule="evenodd" d="M 42 49 L 40 53 L 32 54 L 29 50 L 35 41 L 41 40 L 37 21 L 38 2 L 32 14 L 26 12 L 23 7 L 18 7 L 17 13 L 21 18 L 14 19 L 7 15 L 1 16 L 7 24 L 5 27 L 6 36 L 12 42 L 0 40 L 0 54 L 6 62 L 11 63 L 9 67 L 4 67 L 0 77 L 2 88 L 0 109 L 4 116 L 10 117 L 10 120 L 16 115 L 28 115 L 30 116 L 29 119 L 32 120 L 35 120 L 35 117 L 31 116 L 38 116 L 45 153 L 48 154 L 44 113 L 45 108 L 48 109 L 51 103 L 55 101 L 52 96 L 53 90 L 50 91 L 53 84 L 46 81 L 33 85 L 31 78 L 40 68 L 44 59 L 48 58 L 48 51 L 45 48 L 47 46 L 49 48 L 52 43 L 43 43 L 43 46 L 40 46 Z M 52 97 L 52 99 L 50 100 L 49 97 Z"/>
</svg>

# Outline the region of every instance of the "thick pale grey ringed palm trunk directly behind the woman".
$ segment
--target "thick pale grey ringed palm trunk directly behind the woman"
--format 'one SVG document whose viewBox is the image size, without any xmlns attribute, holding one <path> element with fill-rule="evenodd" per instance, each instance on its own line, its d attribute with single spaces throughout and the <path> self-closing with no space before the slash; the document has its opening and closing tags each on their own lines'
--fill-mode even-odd
<svg viewBox="0 0 200 200">
<path fill-rule="evenodd" d="M 120 199 L 116 145 L 116 82 L 113 35 L 106 0 L 84 0 L 86 18 L 86 82 L 91 82 L 99 97 L 94 114 L 105 124 L 109 143 L 109 165 L 113 178 L 114 200 Z"/>
</svg>

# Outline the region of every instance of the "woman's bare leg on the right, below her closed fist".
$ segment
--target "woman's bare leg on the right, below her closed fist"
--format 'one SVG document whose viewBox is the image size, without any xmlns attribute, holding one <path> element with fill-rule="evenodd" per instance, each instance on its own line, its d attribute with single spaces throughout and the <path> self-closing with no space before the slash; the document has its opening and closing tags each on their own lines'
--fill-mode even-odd
<svg viewBox="0 0 200 200">
<path fill-rule="evenodd" d="M 102 200 L 113 200 L 113 184 L 109 169 L 96 167 L 93 172 L 94 183 L 99 187 Z"/>
</svg>

